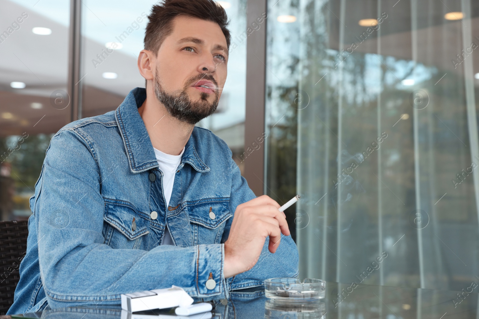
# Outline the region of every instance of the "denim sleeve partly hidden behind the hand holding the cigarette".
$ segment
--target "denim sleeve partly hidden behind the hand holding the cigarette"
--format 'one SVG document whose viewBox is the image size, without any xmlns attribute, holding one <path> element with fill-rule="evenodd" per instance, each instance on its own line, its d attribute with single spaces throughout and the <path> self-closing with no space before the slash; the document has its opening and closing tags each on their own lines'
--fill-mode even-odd
<svg viewBox="0 0 479 319">
<path fill-rule="evenodd" d="M 230 151 L 231 153 L 231 151 Z M 234 213 L 239 204 L 256 198 L 246 179 L 241 176 L 238 165 L 231 159 L 231 195 L 230 209 Z M 227 220 L 222 241 L 228 240 L 229 230 L 233 218 Z M 289 225 L 291 227 L 291 225 Z M 268 250 L 269 238 L 264 242 L 262 253 L 258 262 L 248 271 L 227 278 L 228 289 L 237 290 L 254 286 L 262 286 L 264 280 L 276 277 L 297 277 L 298 275 L 298 250 L 291 236 L 281 234 L 281 242 L 275 253 Z"/>
</svg>

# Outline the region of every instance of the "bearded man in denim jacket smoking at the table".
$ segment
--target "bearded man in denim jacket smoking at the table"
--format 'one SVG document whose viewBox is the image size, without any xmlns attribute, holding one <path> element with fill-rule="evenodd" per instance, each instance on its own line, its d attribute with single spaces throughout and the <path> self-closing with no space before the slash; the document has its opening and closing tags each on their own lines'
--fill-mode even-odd
<svg viewBox="0 0 479 319">
<path fill-rule="evenodd" d="M 146 89 L 52 138 L 9 314 L 119 304 L 171 285 L 228 298 L 297 276 L 279 204 L 256 198 L 226 143 L 194 127 L 226 81 L 227 18 L 213 0 L 153 6 L 138 56 Z"/>
</svg>

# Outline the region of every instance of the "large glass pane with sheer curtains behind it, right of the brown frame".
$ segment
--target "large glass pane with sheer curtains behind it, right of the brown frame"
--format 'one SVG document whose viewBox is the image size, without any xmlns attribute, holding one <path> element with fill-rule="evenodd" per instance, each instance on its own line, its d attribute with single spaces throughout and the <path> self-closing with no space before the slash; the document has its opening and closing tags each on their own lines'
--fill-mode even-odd
<svg viewBox="0 0 479 319">
<path fill-rule="evenodd" d="M 268 1 L 266 193 L 300 277 L 460 291 L 479 274 L 477 1 Z"/>
</svg>

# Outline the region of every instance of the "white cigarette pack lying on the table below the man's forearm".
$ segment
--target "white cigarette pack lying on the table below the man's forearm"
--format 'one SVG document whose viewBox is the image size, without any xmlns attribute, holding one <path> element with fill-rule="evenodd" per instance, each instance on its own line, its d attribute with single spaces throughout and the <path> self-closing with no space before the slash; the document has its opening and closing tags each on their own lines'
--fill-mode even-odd
<svg viewBox="0 0 479 319">
<path fill-rule="evenodd" d="M 128 312 L 187 307 L 192 303 L 193 298 L 177 286 L 121 295 L 121 308 Z"/>
</svg>

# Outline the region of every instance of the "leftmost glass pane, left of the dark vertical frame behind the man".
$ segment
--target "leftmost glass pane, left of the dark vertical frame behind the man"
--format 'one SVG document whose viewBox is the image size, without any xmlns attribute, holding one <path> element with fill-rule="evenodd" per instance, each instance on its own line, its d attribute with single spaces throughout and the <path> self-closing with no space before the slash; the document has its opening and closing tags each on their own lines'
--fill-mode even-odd
<svg viewBox="0 0 479 319">
<path fill-rule="evenodd" d="M 45 151 L 70 117 L 69 1 L 0 4 L 0 220 L 25 220 Z"/>
</svg>

